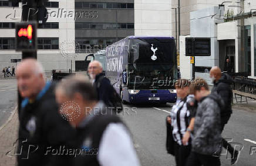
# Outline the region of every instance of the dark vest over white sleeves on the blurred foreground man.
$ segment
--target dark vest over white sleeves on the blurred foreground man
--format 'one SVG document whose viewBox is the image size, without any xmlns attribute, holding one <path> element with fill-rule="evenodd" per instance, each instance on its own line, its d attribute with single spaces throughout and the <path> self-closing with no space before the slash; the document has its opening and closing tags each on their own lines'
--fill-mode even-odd
<svg viewBox="0 0 256 166">
<path fill-rule="evenodd" d="M 81 153 L 75 157 L 73 165 L 100 165 L 97 158 L 100 141 L 102 141 L 103 133 L 110 123 L 124 124 L 118 116 L 113 115 L 112 111 L 106 109 L 106 105 L 102 103 L 99 113 L 92 113 L 76 128 L 75 149 L 80 149 Z"/>
</svg>

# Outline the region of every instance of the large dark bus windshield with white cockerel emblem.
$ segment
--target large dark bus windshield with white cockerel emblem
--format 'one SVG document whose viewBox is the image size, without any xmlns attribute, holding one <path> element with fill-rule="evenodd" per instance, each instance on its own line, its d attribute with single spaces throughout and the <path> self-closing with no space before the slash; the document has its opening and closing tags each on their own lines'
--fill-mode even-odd
<svg viewBox="0 0 256 166">
<path fill-rule="evenodd" d="M 132 39 L 129 47 L 129 88 L 174 88 L 177 58 L 173 39 Z"/>
</svg>

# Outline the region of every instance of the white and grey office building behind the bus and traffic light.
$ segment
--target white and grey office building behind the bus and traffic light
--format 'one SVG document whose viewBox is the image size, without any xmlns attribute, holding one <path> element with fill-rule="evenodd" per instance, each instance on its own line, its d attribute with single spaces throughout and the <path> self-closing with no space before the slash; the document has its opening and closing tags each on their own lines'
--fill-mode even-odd
<svg viewBox="0 0 256 166">
<path fill-rule="evenodd" d="M 171 1 L 49 0 L 47 23 L 38 29 L 38 60 L 46 71 L 75 71 L 76 62 L 131 35 L 171 36 Z M 15 8 L 0 1 L 0 68 L 15 66 Z M 9 46 L 10 45 L 10 46 Z"/>
</svg>

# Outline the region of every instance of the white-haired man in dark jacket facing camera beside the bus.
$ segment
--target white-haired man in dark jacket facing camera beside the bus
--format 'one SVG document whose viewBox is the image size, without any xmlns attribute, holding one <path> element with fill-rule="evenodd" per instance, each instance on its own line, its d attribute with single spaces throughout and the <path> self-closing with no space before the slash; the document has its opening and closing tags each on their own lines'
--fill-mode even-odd
<svg viewBox="0 0 256 166">
<path fill-rule="evenodd" d="M 107 106 L 112 106 L 110 96 L 113 94 L 113 87 L 109 79 L 103 74 L 102 64 L 99 61 L 92 61 L 88 67 L 90 78 L 97 92 L 97 99 L 103 101 Z"/>
</svg>

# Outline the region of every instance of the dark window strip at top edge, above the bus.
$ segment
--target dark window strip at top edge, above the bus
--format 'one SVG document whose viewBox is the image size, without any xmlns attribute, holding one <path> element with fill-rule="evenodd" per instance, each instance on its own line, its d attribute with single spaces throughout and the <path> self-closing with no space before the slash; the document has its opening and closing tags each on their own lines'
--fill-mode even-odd
<svg viewBox="0 0 256 166">
<path fill-rule="evenodd" d="M 134 9 L 133 3 L 75 2 L 76 9 Z"/>
</svg>

